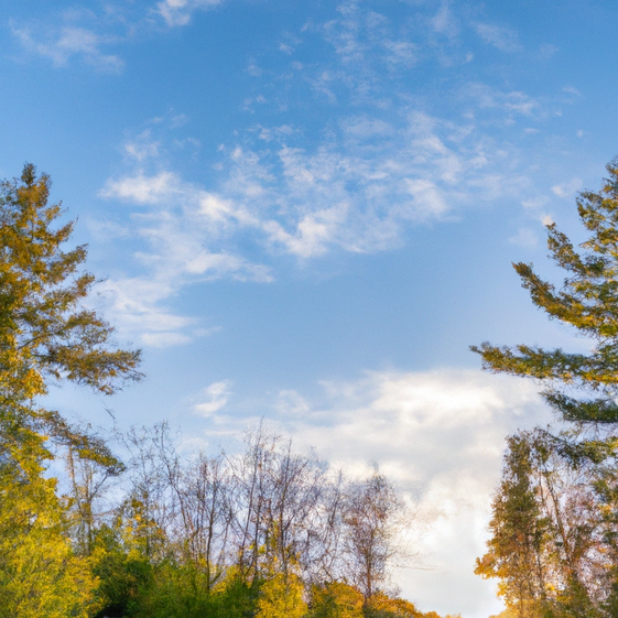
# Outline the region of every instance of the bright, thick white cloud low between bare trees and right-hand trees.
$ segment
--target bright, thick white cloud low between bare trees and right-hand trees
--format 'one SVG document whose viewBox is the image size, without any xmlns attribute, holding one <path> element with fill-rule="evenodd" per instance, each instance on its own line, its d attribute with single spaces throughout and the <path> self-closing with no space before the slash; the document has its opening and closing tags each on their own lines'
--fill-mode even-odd
<svg viewBox="0 0 618 618">
<path fill-rule="evenodd" d="M 378 463 L 416 502 L 420 520 L 430 525 L 412 536 L 420 565 L 429 571 L 398 572 L 405 597 L 441 614 L 498 612 L 494 583 L 473 574 L 474 561 L 485 551 L 505 437 L 550 420 L 538 387 L 454 369 L 371 371 L 323 387 L 319 403 L 281 391 L 270 424 L 348 474 L 366 475 Z M 205 438 L 240 438 L 248 422 L 217 415 L 206 425 Z"/>
</svg>

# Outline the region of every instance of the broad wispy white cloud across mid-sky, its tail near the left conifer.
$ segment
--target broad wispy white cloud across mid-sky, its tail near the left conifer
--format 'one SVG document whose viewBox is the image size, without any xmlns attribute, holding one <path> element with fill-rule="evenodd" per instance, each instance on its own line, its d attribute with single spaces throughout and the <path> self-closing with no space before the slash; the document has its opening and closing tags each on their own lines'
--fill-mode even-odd
<svg viewBox="0 0 618 618">
<path fill-rule="evenodd" d="M 512 153 L 473 123 L 415 110 L 388 120 L 343 117 L 312 150 L 289 145 L 303 139 L 289 126 L 249 135 L 254 150 L 248 140 L 223 147 L 218 184 L 207 191 L 169 169 L 147 172 L 165 151 L 161 139 L 142 132 L 124 144 L 133 171 L 101 189 L 106 199 L 140 207 L 121 236 L 139 246 L 133 267 L 143 272 L 116 275 L 101 291 L 110 317 L 144 345 L 191 340 L 204 327 L 170 308 L 186 286 L 219 278 L 272 281 L 268 264 L 249 259 L 256 248 L 267 249 L 269 261 L 390 250 L 411 225 L 525 187 L 525 178 L 509 176 Z"/>
</svg>

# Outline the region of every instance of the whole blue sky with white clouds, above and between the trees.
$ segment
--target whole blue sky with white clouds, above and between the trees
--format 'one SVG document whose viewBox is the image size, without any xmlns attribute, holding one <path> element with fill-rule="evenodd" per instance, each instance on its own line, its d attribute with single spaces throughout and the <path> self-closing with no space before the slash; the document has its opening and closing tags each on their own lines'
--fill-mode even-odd
<svg viewBox="0 0 618 618">
<path fill-rule="evenodd" d="M 538 384 L 469 345 L 586 341 L 511 262 L 618 153 L 609 0 L 7 0 L 0 177 L 53 178 L 147 379 L 69 418 L 234 448 L 264 420 L 415 505 L 422 610 L 487 618 L 473 574 L 505 436 Z"/>
</svg>

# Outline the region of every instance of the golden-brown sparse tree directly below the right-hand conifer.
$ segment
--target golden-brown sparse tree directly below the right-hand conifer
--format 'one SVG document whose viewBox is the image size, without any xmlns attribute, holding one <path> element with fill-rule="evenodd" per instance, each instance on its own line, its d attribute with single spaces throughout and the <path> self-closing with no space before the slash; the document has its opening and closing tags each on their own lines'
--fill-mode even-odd
<svg viewBox="0 0 618 618">
<path fill-rule="evenodd" d="M 607 615 L 608 497 L 599 500 L 598 466 L 570 457 L 562 446 L 572 437 L 564 440 L 544 430 L 508 437 L 488 551 L 477 560 L 475 573 L 498 577 L 521 618 Z"/>
</svg>

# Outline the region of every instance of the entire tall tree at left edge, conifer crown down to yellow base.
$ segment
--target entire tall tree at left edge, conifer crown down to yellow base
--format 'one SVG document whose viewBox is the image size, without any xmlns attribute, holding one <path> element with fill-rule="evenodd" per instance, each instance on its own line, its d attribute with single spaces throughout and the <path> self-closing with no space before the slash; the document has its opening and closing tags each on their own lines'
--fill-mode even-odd
<svg viewBox="0 0 618 618">
<path fill-rule="evenodd" d="M 51 181 L 32 164 L 0 183 L 0 614 L 85 616 L 94 579 L 75 554 L 66 505 L 46 478 L 52 437 L 79 457 L 112 465 L 108 451 L 37 404 L 53 381 L 111 394 L 139 380 L 139 350 L 115 349 L 113 328 L 83 301 L 95 278 L 86 248 L 64 251 L 74 224 L 55 227 Z"/>
</svg>

